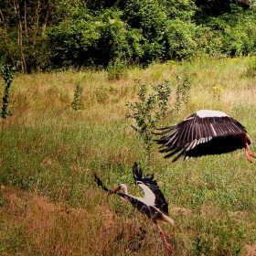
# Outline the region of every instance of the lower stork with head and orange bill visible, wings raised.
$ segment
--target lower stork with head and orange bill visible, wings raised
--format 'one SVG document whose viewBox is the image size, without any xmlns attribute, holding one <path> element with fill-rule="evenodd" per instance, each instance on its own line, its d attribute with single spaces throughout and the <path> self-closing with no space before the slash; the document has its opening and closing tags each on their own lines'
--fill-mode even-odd
<svg viewBox="0 0 256 256">
<path fill-rule="evenodd" d="M 141 187 L 144 191 L 144 197 L 134 197 L 128 194 L 127 186 L 125 184 L 120 184 L 115 189 L 111 190 L 105 187 L 100 178 L 96 175 L 95 181 L 102 189 L 107 191 L 109 194 L 117 194 L 124 197 L 130 203 L 132 203 L 134 208 L 137 208 L 140 212 L 144 213 L 147 218 L 152 219 L 156 227 L 159 229 L 162 240 L 165 243 L 166 249 L 170 252 L 173 251 L 172 246 L 167 242 L 165 238 L 165 233 L 163 229 L 157 224 L 156 220 L 163 220 L 167 223 L 175 225 L 173 219 L 168 216 L 168 204 L 165 200 L 163 193 L 157 185 L 156 180 L 154 180 L 154 175 L 147 175 L 143 177 L 143 170 L 138 167 L 137 163 L 133 165 L 133 177 L 135 180 L 135 185 Z M 123 191 L 120 193 L 118 191 Z"/>
</svg>

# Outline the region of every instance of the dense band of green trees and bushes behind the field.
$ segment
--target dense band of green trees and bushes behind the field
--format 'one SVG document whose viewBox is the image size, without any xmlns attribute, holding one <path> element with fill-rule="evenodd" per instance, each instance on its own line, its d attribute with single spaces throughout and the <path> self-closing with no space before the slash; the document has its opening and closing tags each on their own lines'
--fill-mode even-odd
<svg viewBox="0 0 256 256">
<path fill-rule="evenodd" d="M 254 55 L 255 4 L 237 1 L 0 3 L 0 56 L 23 71 Z"/>
</svg>

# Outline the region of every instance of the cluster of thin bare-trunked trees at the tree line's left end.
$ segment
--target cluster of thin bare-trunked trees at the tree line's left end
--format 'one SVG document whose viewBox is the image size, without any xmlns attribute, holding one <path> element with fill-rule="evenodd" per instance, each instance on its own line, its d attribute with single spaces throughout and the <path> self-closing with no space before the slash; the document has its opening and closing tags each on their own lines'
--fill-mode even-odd
<svg viewBox="0 0 256 256">
<path fill-rule="evenodd" d="M 77 1 L 70 2 L 72 5 Z M 56 25 L 59 16 L 66 15 L 65 10 L 69 13 L 69 5 L 57 0 L 1 1 L 0 32 L 4 38 L 5 61 L 14 63 L 14 59 L 19 59 L 21 69 L 28 73 L 48 66 L 46 29 Z"/>
</svg>

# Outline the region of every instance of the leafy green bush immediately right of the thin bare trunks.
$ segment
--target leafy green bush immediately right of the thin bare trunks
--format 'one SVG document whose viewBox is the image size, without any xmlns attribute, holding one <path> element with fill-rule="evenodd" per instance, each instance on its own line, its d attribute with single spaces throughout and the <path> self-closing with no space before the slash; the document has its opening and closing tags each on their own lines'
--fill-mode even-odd
<svg viewBox="0 0 256 256">
<path fill-rule="evenodd" d="M 51 61 L 57 66 L 81 66 L 93 62 L 91 47 L 101 37 L 94 18 L 83 9 L 48 28 Z"/>
</svg>

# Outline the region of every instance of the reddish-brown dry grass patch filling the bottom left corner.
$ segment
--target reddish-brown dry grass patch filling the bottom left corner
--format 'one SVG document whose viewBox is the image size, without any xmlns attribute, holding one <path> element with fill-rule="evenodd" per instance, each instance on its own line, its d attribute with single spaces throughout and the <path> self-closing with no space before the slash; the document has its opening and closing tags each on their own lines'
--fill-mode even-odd
<svg viewBox="0 0 256 256">
<path fill-rule="evenodd" d="M 106 206 L 66 208 L 26 191 L 3 187 L 0 242 L 7 255 L 114 255 L 165 251 L 155 225 L 137 211 L 134 219 Z M 166 228 L 166 227 L 165 227 Z M 19 230 L 19 231 L 17 231 Z M 12 243 L 10 237 L 16 236 Z M 169 238 L 169 236 L 167 236 Z"/>
</svg>

